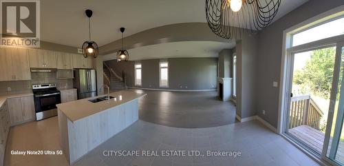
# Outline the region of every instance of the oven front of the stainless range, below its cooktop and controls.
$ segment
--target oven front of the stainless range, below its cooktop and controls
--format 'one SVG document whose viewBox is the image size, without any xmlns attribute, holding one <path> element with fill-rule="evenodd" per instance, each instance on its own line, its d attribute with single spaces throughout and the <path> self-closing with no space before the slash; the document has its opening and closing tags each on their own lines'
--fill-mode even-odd
<svg viewBox="0 0 344 166">
<path fill-rule="evenodd" d="M 61 103 L 60 92 L 34 96 L 36 121 L 57 115 L 56 104 Z"/>
</svg>

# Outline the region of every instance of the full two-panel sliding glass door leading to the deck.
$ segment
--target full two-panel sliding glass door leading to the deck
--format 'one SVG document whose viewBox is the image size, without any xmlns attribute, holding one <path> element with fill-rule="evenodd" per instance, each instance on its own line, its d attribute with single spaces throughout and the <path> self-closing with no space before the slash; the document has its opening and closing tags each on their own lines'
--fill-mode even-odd
<svg viewBox="0 0 344 166">
<path fill-rule="evenodd" d="M 287 136 L 330 163 L 344 165 L 344 43 L 289 56 Z"/>
</svg>

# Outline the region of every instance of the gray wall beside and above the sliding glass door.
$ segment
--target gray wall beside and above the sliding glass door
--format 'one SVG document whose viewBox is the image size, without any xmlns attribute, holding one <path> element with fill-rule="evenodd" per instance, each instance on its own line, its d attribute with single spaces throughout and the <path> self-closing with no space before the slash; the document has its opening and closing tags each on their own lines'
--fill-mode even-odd
<svg viewBox="0 0 344 166">
<path fill-rule="evenodd" d="M 259 32 L 257 114 L 274 127 L 278 122 L 279 87 L 272 87 L 272 81 L 279 81 L 281 76 L 283 30 L 342 5 L 343 0 L 308 1 Z"/>
</svg>

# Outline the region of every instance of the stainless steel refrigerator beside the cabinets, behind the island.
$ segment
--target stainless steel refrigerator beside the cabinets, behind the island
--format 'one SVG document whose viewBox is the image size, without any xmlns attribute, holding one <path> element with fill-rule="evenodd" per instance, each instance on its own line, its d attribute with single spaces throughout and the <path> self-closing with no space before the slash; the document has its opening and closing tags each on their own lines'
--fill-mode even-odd
<svg viewBox="0 0 344 166">
<path fill-rule="evenodd" d="M 78 99 L 97 96 L 96 70 L 74 70 L 73 84 L 78 89 Z"/>
</svg>

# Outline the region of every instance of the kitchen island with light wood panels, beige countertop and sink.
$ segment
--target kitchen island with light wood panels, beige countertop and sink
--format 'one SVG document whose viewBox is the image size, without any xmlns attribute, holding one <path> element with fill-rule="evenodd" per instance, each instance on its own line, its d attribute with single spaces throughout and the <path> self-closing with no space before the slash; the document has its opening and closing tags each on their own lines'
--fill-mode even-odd
<svg viewBox="0 0 344 166">
<path fill-rule="evenodd" d="M 97 103 L 85 98 L 56 105 L 61 147 L 69 163 L 138 121 L 138 98 L 145 95 L 122 90 L 111 93 L 114 98 Z"/>
</svg>

